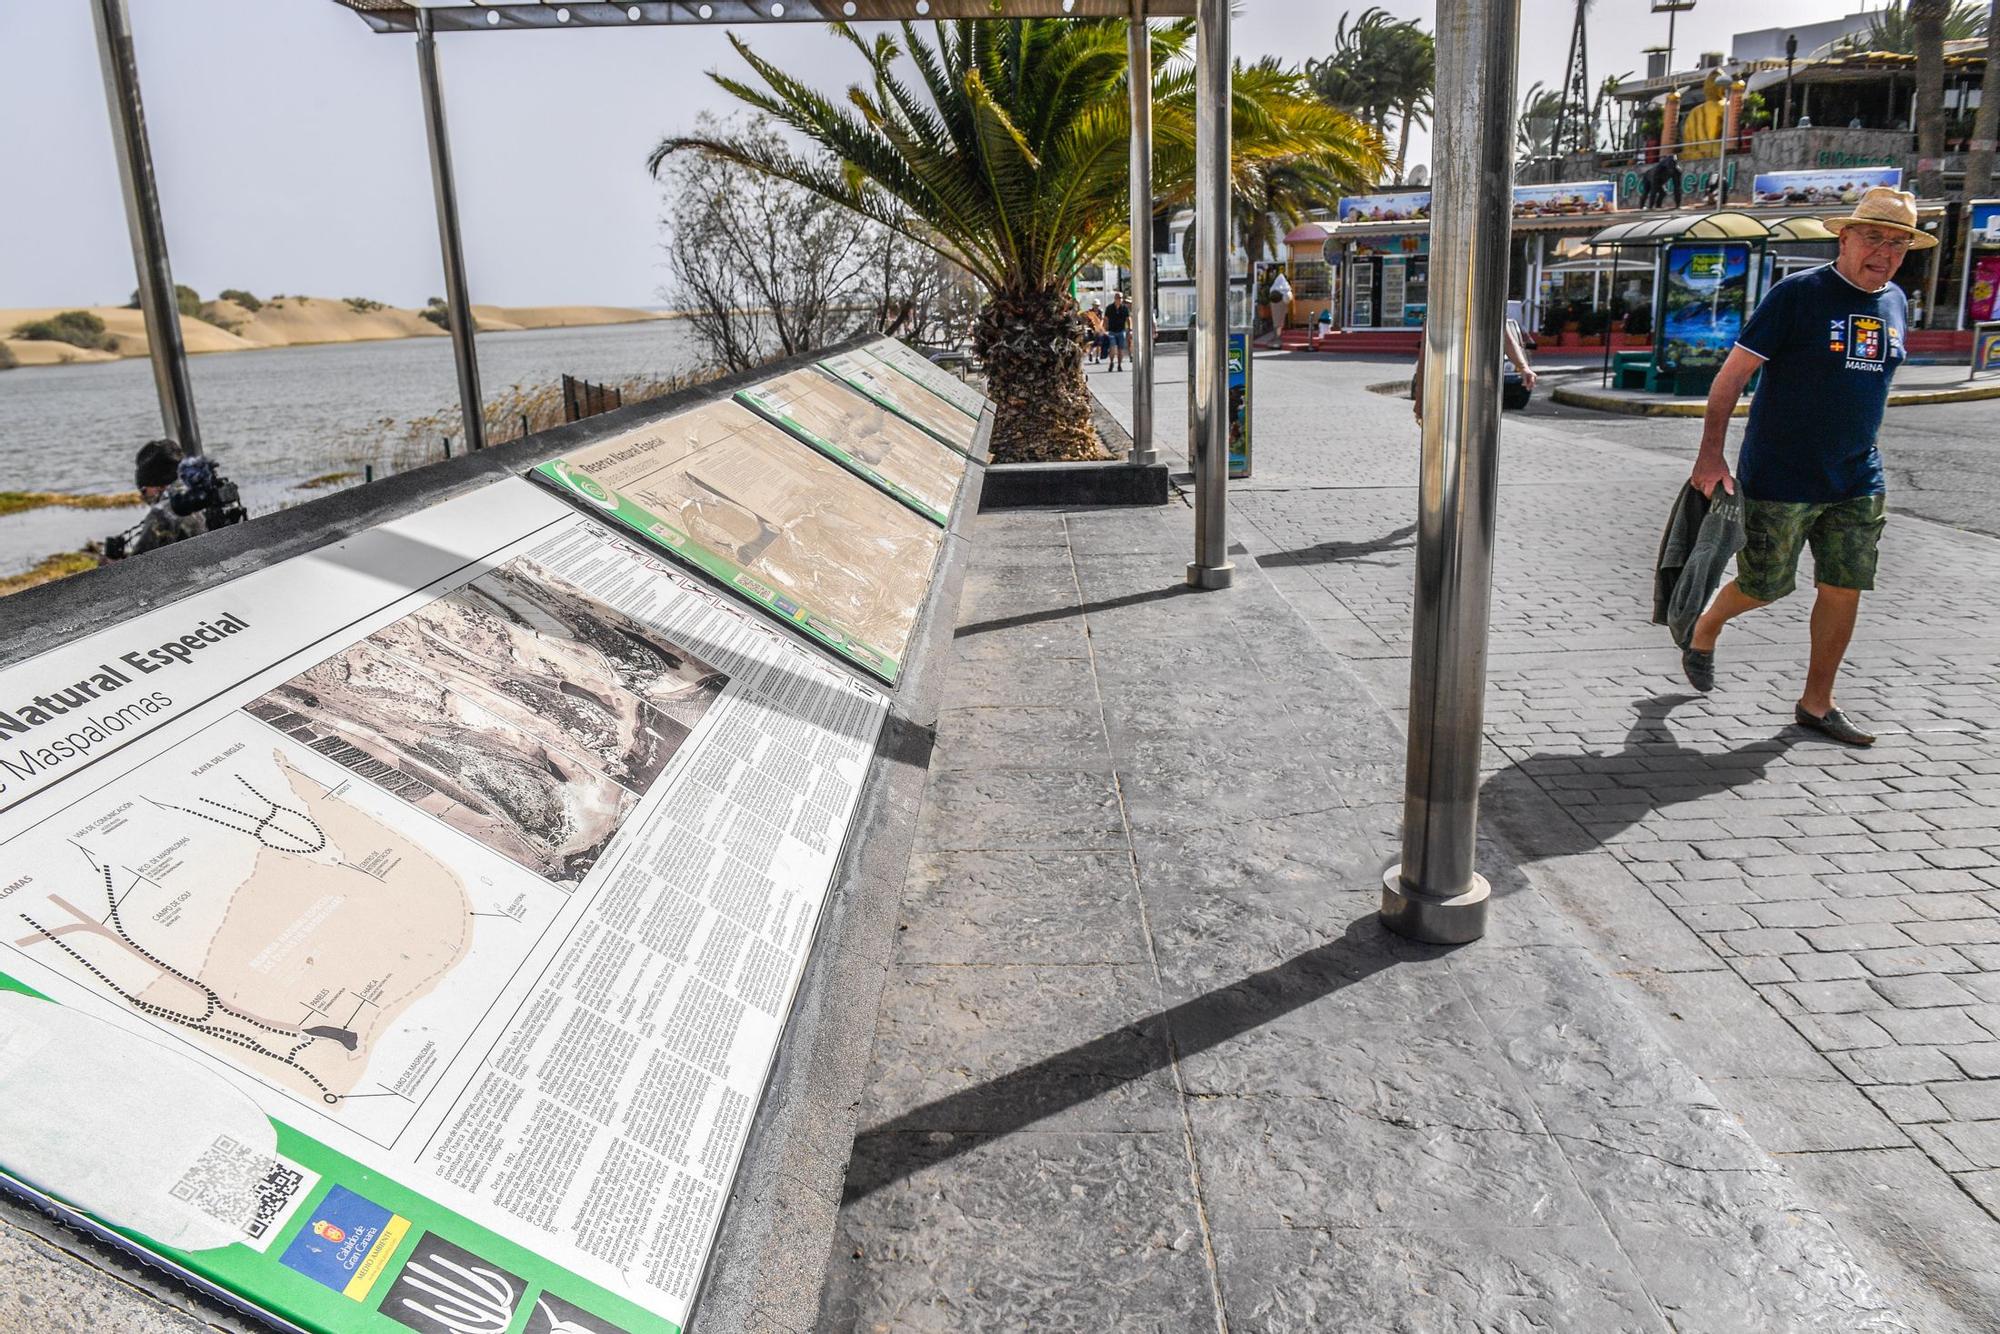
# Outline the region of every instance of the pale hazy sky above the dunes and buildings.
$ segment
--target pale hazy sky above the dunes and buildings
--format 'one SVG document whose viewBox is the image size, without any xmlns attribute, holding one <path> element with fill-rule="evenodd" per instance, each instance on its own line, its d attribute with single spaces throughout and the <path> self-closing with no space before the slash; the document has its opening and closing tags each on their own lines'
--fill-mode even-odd
<svg viewBox="0 0 2000 1334">
<path fill-rule="evenodd" d="M 180 282 L 396 304 L 442 292 L 410 38 L 376 36 L 330 0 L 128 2 Z M 1324 54 L 1348 8 L 1244 0 L 1236 50 Z M 1434 14 L 1426 0 L 1384 8 Z M 1594 76 L 1644 68 L 1640 48 L 1666 38 L 1648 8 L 1596 0 Z M 1680 18 L 1678 48 L 1726 50 L 1740 26 L 1854 8 L 1704 0 Z M 1522 88 L 1560 78 L 1572 12 L 1524 0 Z M 818 26 L 754 38 L 822 88 L 856 74 Z M 704 76 L 740 66 L 722 32 L 466 34 L 440 50 L 474 300 L 656 304 L 662 200 L 644 158 L 702 110 L 728 110 Z M 0 306 L 122 302 L 132 254 L 84 0 L 0 0 Z"/>
</svg>

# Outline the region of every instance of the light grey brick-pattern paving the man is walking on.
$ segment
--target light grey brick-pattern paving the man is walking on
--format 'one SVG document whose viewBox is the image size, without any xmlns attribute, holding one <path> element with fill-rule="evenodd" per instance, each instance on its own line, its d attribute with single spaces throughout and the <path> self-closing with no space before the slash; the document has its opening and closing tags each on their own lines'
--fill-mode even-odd
<svg viewBox="0 0 2000 1334">
<path fill-rule="evenodd" d="M 1232 536 L 1402 710 L 1410 406 L 1382 364 L 1256 372 Z M 1506 418 L 1486 824 L 1918 1328 L 2000 1328 L 2000 542 L 1892 516 L 1840 682 L 1882 740 L 1848 750 L 1790 726 L 1810 594 L 1734 622 L 1706 698 L 1646 624 L 1684 476 Z"/>
</svg>

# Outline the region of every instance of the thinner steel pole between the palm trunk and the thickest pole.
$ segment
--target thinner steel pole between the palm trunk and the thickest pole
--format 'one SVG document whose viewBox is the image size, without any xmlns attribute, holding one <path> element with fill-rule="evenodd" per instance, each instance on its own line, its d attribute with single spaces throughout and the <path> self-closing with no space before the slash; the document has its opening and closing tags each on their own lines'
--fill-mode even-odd
<svg viewBox="0 0 2000 1334">
<path fill-rule="evenodd" d="M 1194 560 L 1188 582 L 1228 588 L 1230 564 L 1230 0 L 1194 8 Z"/>
</svg>

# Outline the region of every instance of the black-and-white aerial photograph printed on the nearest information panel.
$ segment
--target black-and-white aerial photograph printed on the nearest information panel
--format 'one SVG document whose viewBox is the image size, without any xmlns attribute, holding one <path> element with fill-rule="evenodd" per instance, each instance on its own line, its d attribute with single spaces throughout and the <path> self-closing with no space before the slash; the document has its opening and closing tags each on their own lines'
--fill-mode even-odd
<svg viewBox="0 0 2000 1334">
<path fill-rule="evenodd" d="M 510 560 L 252 716 L 558 884 L 582 880 L 728 678 Z"/>
</svg>

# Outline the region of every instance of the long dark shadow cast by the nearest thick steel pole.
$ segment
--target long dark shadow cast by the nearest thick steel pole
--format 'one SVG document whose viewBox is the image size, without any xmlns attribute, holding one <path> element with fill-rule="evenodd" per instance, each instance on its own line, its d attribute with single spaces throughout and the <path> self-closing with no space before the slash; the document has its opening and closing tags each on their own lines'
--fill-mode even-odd
<svg viewBox="0 0 2000 1334">
<path fill-rule="evenodd" d="M 1082 1106 L 1396 964 L 1448 954 L 1450 948 L 1388 934 L 1370 912 L 1348 922 L 1336 940 L 1274 968 L 862 1130 L 854 1136 L 842 1202 L 866 1200 L 906 1176 Z"/>
</svg>

